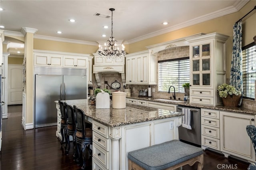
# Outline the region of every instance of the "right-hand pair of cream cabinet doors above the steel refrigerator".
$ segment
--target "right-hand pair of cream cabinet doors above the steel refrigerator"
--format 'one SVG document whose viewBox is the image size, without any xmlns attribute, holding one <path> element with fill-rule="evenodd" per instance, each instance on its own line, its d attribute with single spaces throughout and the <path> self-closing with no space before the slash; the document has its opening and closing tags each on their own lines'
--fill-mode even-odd
<svg viewBox="0 0 256 170">
<path fill-rule="evenodd" d="M 86 57 L 64 56 L 63 67 L 87 68 L 88 59 Z"/>
</svg>

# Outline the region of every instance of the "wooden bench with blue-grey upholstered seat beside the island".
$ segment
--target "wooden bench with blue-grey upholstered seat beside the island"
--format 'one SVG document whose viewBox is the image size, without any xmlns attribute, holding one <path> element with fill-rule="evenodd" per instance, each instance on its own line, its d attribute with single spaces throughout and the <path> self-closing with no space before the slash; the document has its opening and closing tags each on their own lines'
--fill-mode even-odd
<svg viewBox="0 0 256 170">
<path fill-rule="evenodd" d="M 171 140 L 128 153 L 129 170 L 173 170 L 186 164 L 198 162 L 197 169 L 204 166 L 204 151 L 179 140 Z"/>
</svg>

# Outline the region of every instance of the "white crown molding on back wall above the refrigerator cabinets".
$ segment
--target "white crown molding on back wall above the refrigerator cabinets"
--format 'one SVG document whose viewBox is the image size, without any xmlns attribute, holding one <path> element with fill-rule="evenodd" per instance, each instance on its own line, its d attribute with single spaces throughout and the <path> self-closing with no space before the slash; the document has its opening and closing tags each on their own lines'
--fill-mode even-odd
<svg viewBox="0 0 256 170">
<path fill-rule="evenodd" d="M 34 38 L 42 39 L 42 40 L 52 40 L 52 41 L 57 41 L 57 42 L 79 43 L 79 44 L 85 44 L 85 45 L 96 45 L 96 46 L 98 46 L 98 43 L 96 43 L 96 42 L 73 40 L 73 39 L 67 39 L 67 38 L 58 38 L 58 37 L 41 36 L 41 35 L 35 35 Z"/>
</svg>

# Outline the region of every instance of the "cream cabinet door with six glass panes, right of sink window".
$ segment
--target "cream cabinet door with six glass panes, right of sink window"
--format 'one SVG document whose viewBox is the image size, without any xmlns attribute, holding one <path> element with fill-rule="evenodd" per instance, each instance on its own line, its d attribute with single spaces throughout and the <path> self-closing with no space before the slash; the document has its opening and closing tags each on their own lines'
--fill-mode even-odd
<svg viewBox="0 0 256 170">
<path fill-rule="evenodd" d="M 211 86 L 211 43 L 192 46 L 190 71 L 195 86 Z"/>
</svg>

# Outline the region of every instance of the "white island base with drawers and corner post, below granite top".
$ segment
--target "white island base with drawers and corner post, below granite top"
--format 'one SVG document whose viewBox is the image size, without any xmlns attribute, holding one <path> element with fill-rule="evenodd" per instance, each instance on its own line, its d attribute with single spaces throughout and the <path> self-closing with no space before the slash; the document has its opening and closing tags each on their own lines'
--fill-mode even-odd
<svg viewBox="0 0 256 170">
<path fill-rule="evenodd" d="M 178 139 L 181 117 L 106 127 L 92 121 L 92 169 L 128 170 L 128 152 Z"/>
</svg>

